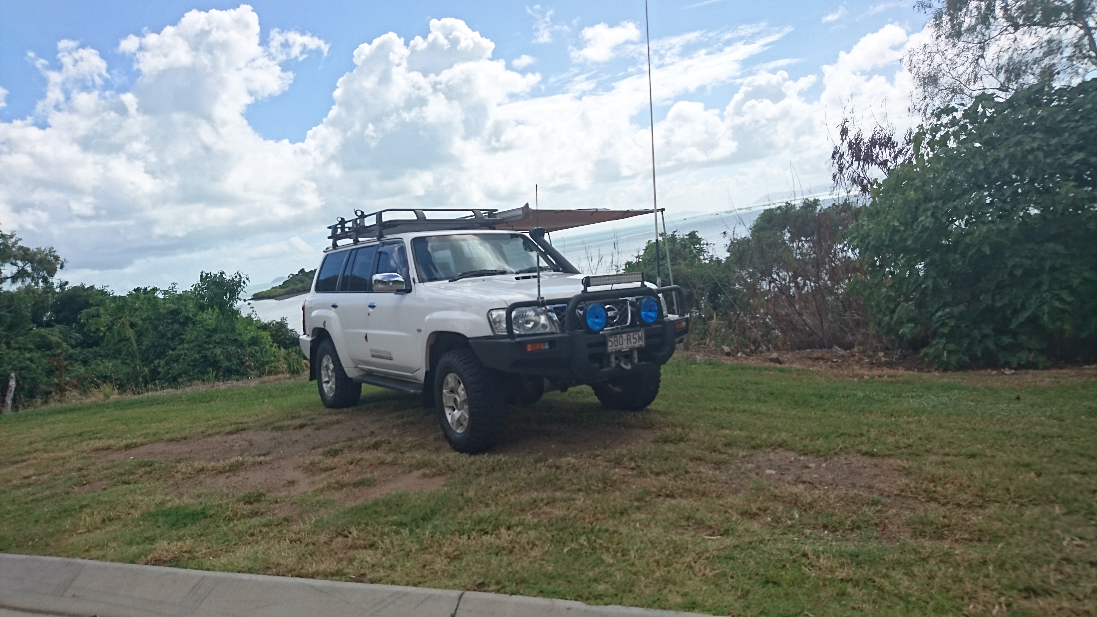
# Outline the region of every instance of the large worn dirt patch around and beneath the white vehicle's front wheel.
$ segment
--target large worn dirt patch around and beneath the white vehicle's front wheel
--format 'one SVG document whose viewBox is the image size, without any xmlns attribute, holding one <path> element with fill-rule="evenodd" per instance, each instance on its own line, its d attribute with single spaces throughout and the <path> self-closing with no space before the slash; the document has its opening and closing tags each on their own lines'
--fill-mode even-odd
<svg viewBox="0 0 1097 617">
<path fill-rule="evenodd" d="M 507 433 L 493 456 L 566 456 L 649 442 L 646 428 L 618 425 L 561 425 L 535 411 L 508 410 Z M 589 418 L 588 418 L 589 422 Z M 230 434 L 192 436 L 102 452 L 112 461 L 155 459 L 176 463 L 174 491 L 216 491 L 242 495 L 262 491 L 270 496 L 305 493 L 335 498 L 341 506 L 398 491 L 430 491 L 444 476 L 388 464 L 374 450 L 399 441 L 420 453 L 450 448 L 430 416 L 406 412 L 354 410 L 346 414 L 303 417 Z M 88 486 L 86 490 L 101 487 Z M 291 508 L 292 509 L 292 508 Z"/>
</svg>

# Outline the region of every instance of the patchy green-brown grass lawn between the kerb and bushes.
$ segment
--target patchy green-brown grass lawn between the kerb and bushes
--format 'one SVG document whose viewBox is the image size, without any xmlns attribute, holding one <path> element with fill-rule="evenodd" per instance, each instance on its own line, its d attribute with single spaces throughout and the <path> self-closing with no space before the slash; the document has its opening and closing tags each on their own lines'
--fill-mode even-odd
<svg viewBox="0 0 1097 617">
<path fill-rule="evenodd" d="M 1097 380 L 679 360 L 663 379 L 640 414 L 586 388 L 511 408 L 510 439 L 643 437 L 556 456 L 455 455 L 410 397 L 367 388 L 336 412 L 301 381 L 3 416 L 0 550 L 714 615 L 1097 613 Z M 263 457 L 106 456 L 346 414 L 384 434 L 313 452 L 306 471 L 330 480 L 293 497 L 201 482 Z M 774 449 L 887 463 L 903 483 L 733 489 L 744 456 Z M 381 468 L 445 482 L 340 505 Z"/>
</svg>

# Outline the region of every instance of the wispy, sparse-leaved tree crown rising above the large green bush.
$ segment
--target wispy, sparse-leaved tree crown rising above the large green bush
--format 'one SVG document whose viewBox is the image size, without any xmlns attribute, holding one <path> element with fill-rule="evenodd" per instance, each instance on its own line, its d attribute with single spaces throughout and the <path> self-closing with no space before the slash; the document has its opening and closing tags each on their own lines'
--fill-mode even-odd
<svg viewBox="0 0 1097 617">
<path fill-rule="evenodd" d="M 1074 85 L 1097 71 L 1097 0 L 919 0 L 930 40 L 911 49 L 913 109 L 928 119 L 989 93 Z"/>
</svg>

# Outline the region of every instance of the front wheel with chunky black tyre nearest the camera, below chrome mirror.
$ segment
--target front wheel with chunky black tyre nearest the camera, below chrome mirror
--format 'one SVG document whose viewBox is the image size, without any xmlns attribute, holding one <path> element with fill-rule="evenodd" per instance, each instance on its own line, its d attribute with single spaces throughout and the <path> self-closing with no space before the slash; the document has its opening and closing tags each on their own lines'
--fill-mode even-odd
<svg viewBox="0 0 1097 617">
<path fill-rule="evenodd" d="M 506 401 L 496 371 L 468 349 L 446 351 L 434 367 L 434 411 L 450 447 L 483 452 L 502 437 Z"/>
</svg>

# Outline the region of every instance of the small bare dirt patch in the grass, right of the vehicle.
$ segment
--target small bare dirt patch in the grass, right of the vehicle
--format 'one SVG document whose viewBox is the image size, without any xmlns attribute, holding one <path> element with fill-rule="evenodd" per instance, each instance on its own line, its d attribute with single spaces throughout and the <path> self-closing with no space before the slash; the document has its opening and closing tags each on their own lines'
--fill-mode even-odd
<svg viewBox="0 0 1097 617">
<path fill-rule="evenodd" d="M 769 450 L 739 458 L 725 470 L 732 490 L 742 492 L 751 482 L 799 486 L 812 491 L 855 492 L 890 497 L 906 482 L 892 459 L 842 455 L 829 459 Z"/>
</svg>

